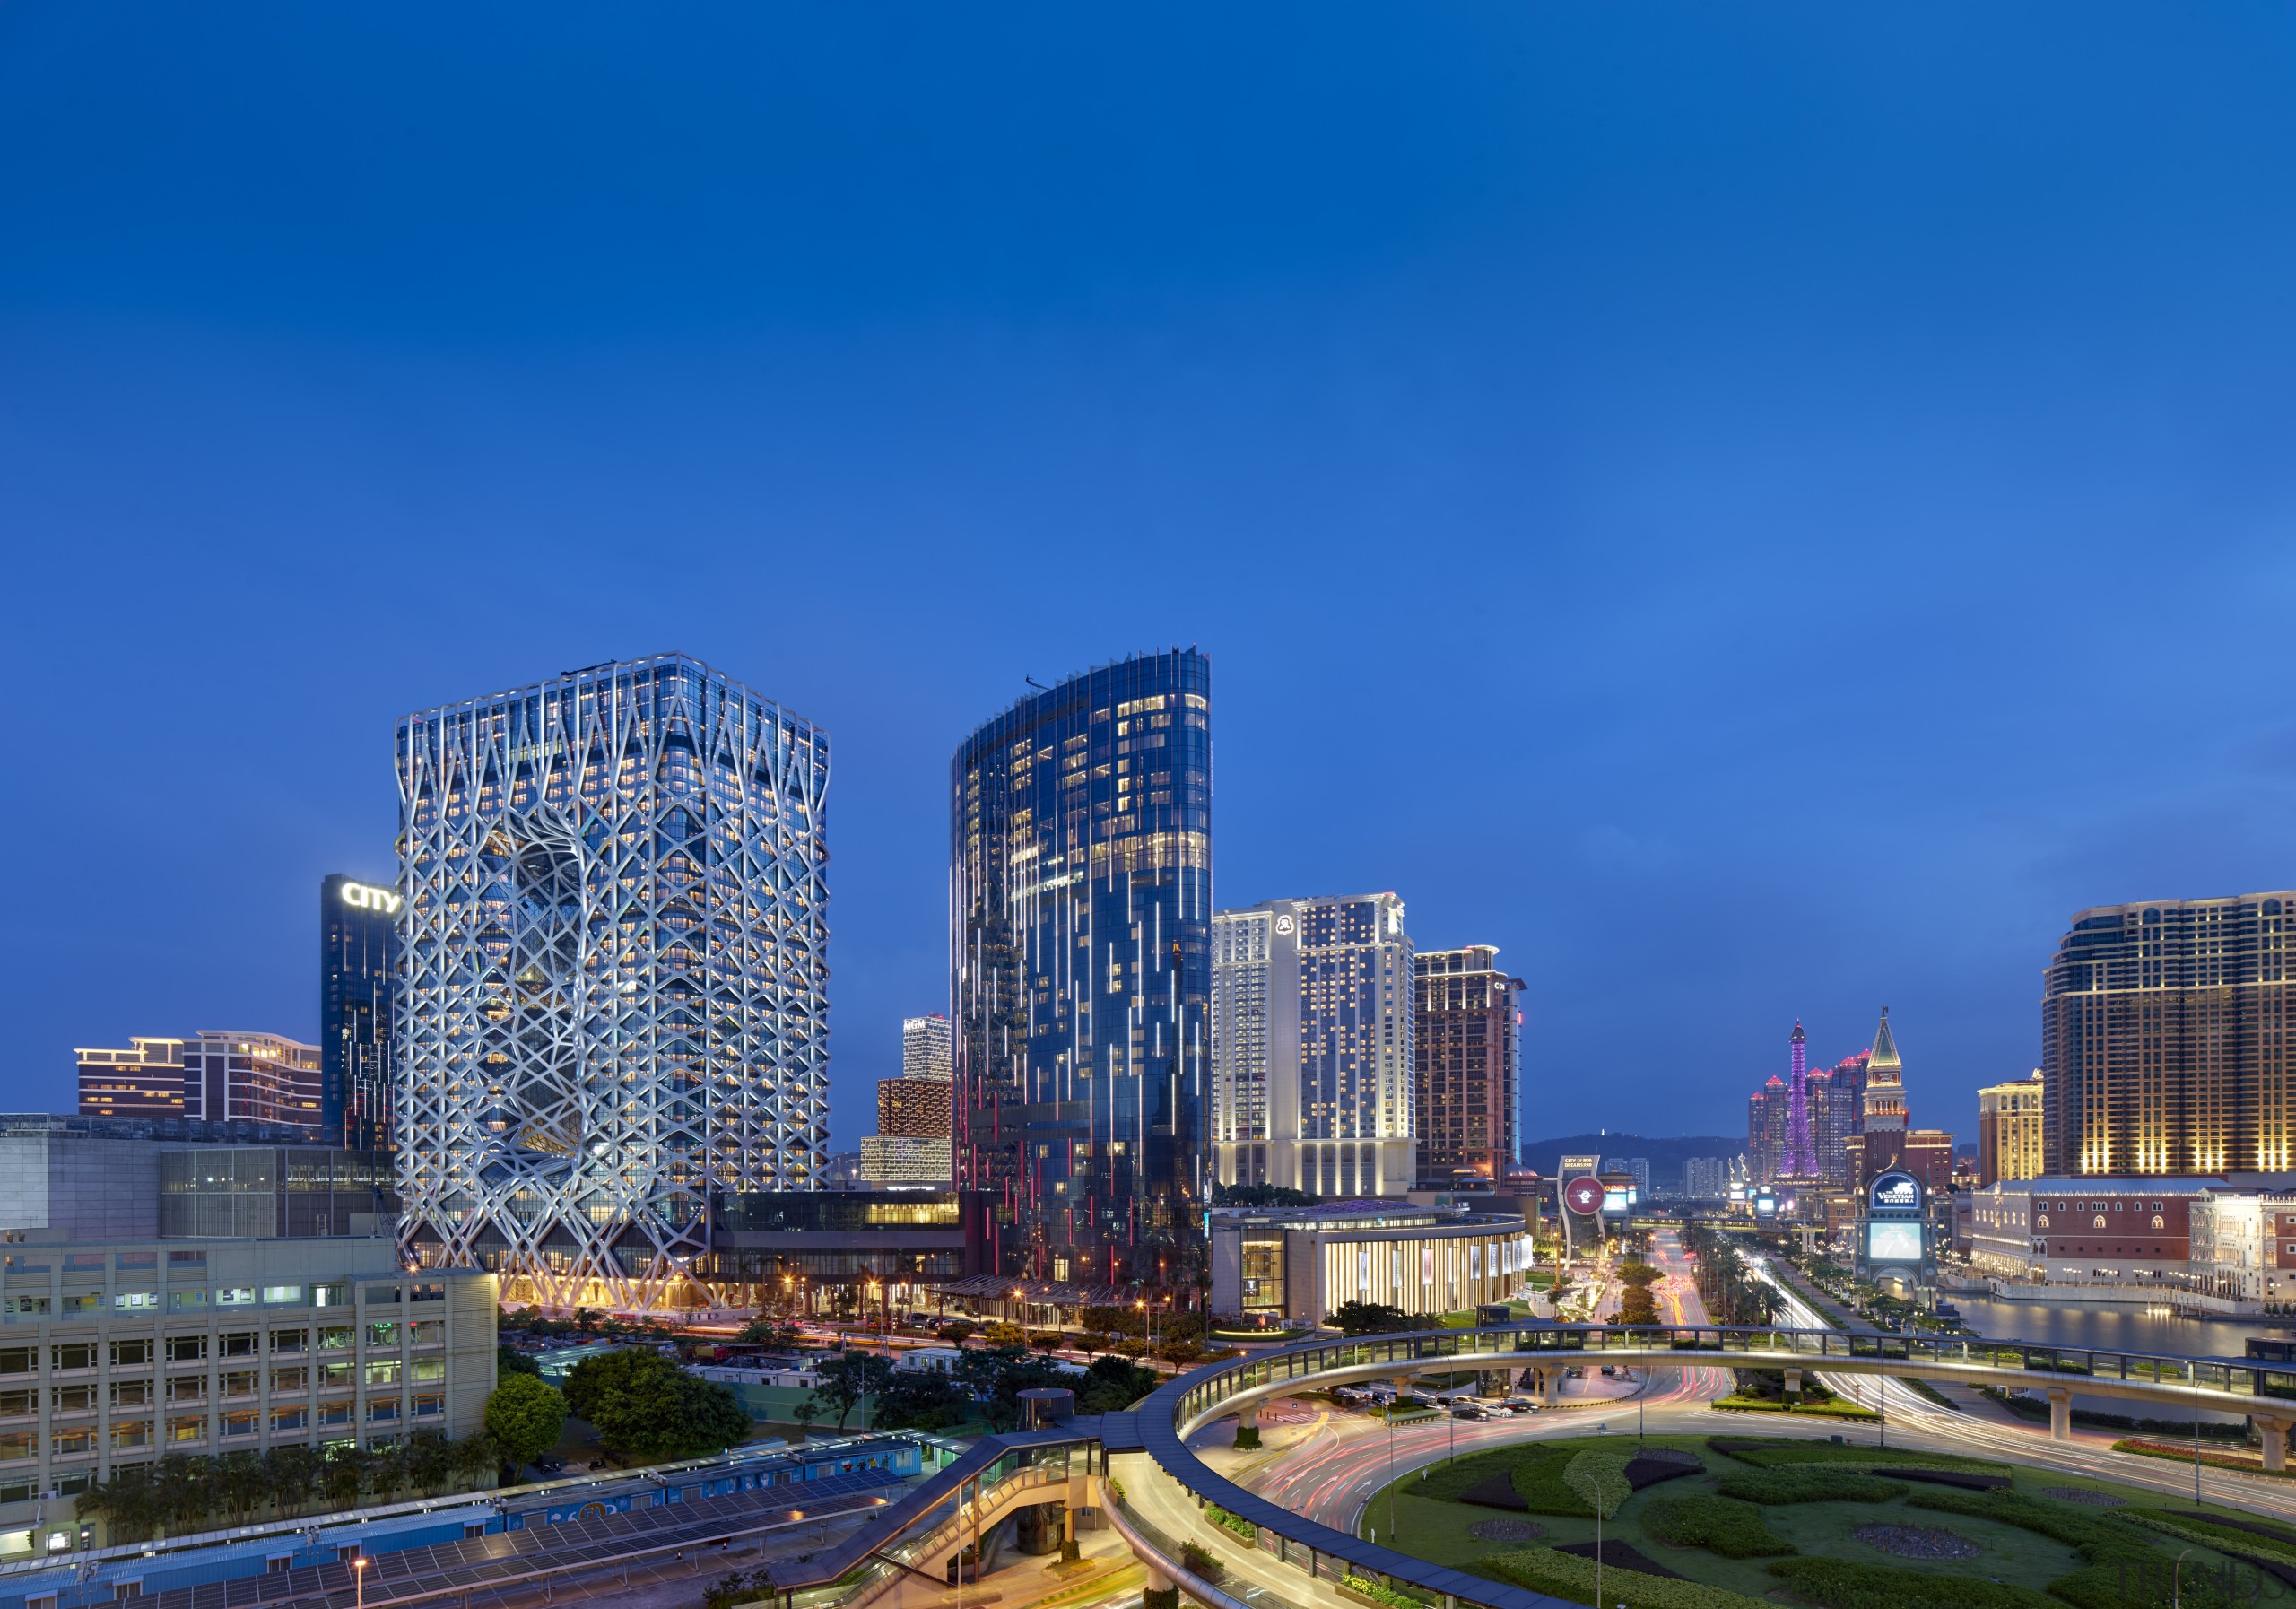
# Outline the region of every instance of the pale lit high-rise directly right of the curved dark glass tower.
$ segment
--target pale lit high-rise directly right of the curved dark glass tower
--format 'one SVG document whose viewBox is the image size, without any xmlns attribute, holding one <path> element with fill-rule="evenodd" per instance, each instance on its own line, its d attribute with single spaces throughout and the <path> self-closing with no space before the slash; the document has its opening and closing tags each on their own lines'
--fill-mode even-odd
<svg viewBox="0 0 2296 1609">
<path fill-rule="evenodd" d="M 1212 1166 L 1313 1196 L 1417 1189 L 1414 982 L 1391 893 L 1212 918 Z"/>
</svg>

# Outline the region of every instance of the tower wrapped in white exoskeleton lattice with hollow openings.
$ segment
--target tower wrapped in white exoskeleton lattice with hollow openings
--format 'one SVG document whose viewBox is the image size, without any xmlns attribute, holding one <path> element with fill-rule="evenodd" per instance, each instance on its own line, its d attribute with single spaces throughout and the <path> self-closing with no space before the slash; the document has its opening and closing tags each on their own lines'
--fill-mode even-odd
<svg viewBox="0 0 2296 1609">
<path fill-rule="evenodd" d="M 714 1191 L 817 1189 L 829 739 L 680 654 L 400 721 L 402 1251 L 703 1301 Z"/>
</svg>

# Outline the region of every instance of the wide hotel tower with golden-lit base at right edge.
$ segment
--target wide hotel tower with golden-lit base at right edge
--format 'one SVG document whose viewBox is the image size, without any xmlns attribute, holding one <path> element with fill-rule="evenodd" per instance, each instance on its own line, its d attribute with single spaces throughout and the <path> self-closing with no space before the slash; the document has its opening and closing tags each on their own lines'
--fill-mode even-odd
<svg viewBox="0 0 2296 1609">
<path fill-rule="evenodd" d="M 2296 893 L 2073 916 L 2041 992 L 2053 1175 L 2287 1173 Z"/>
</svg>

